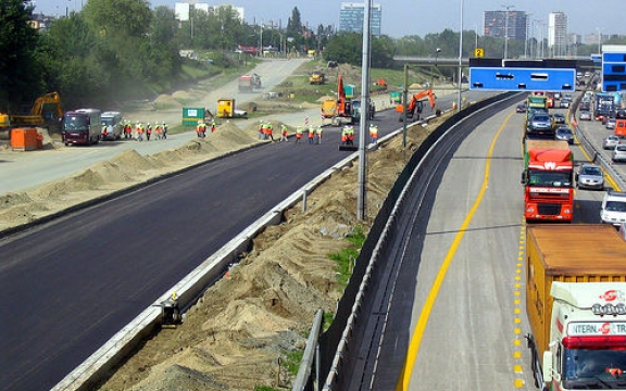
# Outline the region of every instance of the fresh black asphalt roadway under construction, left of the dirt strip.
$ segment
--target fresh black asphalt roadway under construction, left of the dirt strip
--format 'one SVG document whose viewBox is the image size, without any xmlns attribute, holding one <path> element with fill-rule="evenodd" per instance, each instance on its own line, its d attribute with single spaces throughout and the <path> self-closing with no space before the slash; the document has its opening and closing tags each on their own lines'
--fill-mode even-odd
<svg viewBox="0 0 626 391">
<path fill-rule="evenodd" d="M 375 122 L 380 136 L 401 125 L 392 111 Z M 265 144 L 1 238 L 0 389 L 52 388 L 233 237 L 346 157 L 338 144 L 338 128 L 327 128 L 322 144 Z"/>
</svg>

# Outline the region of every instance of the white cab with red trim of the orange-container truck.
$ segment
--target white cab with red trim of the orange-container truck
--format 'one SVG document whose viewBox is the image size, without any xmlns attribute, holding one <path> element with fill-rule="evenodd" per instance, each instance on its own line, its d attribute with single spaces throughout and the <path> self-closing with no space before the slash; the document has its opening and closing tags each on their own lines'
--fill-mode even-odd
<svg viewBox="0 0 626 391">
<path fill-rule="evenodd" d="M 553 390 L 626 389 L 626 283 L 554 281 L 551 295 L 546 383 Z"/>
</svg>

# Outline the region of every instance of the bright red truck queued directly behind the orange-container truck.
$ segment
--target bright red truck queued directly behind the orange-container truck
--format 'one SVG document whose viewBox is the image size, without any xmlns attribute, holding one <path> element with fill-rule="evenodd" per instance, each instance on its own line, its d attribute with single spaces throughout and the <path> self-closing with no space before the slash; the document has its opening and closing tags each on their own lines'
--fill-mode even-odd
<svg viewBox="0 0 626 391">
<path fill-rule="evenodd" d="M 522 184 L 527 222 L 572 222 L 574 155 L 567 141 L 525 139 Z"/>
</svg>

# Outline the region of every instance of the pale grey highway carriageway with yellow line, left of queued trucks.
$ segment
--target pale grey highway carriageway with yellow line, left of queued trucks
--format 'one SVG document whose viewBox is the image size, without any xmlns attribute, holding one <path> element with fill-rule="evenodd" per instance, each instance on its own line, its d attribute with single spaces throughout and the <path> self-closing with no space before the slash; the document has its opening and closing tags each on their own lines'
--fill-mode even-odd
<svg viewBox="0 0 626 391">
<path fill-rule="evenodd" d="M 392 300 L 365 316 L 373 340 L 360 346 L 351 390 L 535 389 L 524 339 L 524 115 L 514 108 L 460 143 L 421 205 L 428 215 L 410 217 Z M 594 140 L 610 133 L 581 128 Z M 576 164 L 588 161 L 572 149 Z M 576 192 L 574 224 L 600 223 L 602 194 Z"/>
</svg>

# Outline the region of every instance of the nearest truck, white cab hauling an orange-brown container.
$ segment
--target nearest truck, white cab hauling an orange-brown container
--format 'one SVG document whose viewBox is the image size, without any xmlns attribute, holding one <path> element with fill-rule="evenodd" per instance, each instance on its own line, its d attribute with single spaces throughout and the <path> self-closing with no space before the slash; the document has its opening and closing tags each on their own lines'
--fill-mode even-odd
<svg viewBox="0 0 626 391">
<path fill-rule="evenodd" d="M 526 227 L 535 387 L 626 389 L 626 241 L 602 224 Z"/>
</svg>

